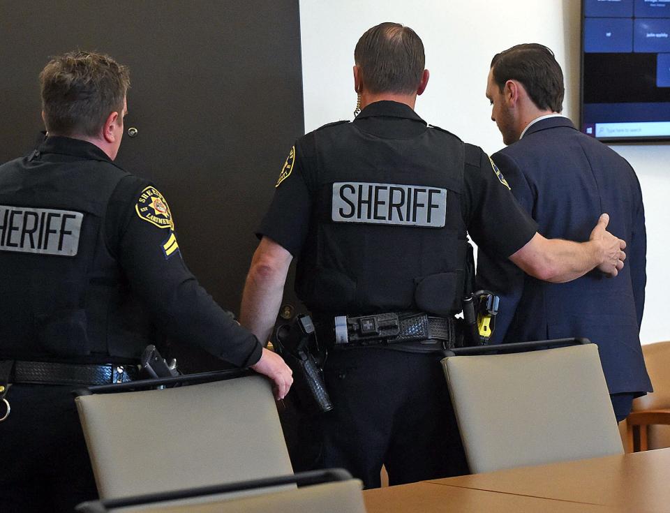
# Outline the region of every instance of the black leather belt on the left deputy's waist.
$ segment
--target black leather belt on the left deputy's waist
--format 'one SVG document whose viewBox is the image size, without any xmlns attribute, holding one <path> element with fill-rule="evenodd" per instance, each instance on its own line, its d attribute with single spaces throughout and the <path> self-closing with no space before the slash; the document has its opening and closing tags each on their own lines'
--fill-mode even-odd
<svg viewBox="0 0 670 513">
<path fill-rule="evenodd" d="M 137 379 L 136 365 L 59 364 L 52 362 L 14 362 L 10 383 L 49 385 L 110 385 Z"/>
</svg>

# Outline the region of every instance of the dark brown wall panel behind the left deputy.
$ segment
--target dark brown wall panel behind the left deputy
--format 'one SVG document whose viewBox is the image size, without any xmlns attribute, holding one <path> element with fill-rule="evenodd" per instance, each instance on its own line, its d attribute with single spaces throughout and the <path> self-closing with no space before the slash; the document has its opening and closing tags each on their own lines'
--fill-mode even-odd
<svg viewBox="0 0 670 513">
<path fill-rule="evenodd" d="M 253 230 L 304 132 L 298 1 L 0 0 L 1 161 L 42 129 L 48 57 L 76 48 L 130 66 L 138 135 L 117 161 L 156 182 L 188 266 L 237 312 Z"/>
</svg>

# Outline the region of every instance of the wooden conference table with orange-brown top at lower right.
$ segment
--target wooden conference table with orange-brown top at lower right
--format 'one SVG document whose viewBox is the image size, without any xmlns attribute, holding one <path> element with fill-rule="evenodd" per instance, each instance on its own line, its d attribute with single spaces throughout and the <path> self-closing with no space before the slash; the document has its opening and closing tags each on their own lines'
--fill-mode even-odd
<svg viewBox="0 0 670 513">
<path fill-rule="evenodd" d="M 670 449 L 363 492 L 368 513 L 670 512 Z"/>
</svg>

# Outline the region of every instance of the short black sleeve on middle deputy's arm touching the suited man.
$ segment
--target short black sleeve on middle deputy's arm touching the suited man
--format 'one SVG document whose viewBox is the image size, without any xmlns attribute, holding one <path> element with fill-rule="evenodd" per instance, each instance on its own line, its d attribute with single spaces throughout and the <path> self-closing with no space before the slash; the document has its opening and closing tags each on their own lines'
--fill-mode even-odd
<svg viewBox="0 0 670 513">
<path fill-rule="evenodd" d="M 468 157 L 472 148 L 477 150 L 476 159 Z M 537 223 L 514 199 L 504 175 L 482 149 L 466 149 L 463 178 L 463 220 L 470 237 L 487 254 L 509 258 L 533 238 Z"/>
</svg>

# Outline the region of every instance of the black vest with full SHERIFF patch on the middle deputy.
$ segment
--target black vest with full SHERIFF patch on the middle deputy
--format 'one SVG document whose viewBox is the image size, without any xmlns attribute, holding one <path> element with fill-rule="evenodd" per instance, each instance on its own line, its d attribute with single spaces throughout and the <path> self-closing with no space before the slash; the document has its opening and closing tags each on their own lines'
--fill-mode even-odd
<svg viewBox="0 0 670 513">
<path fill-rule="evenodd" d="M 313 313 L 461 310 L 464 145 L 429 127 L 384 139 L 355 123 L 314 134 L 313 216 L 296 291 Z"/>
</svg>

